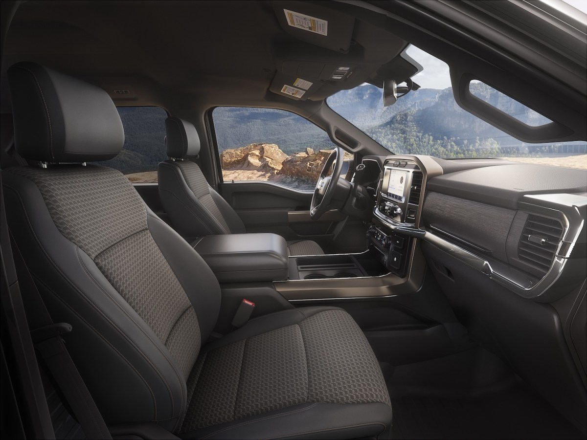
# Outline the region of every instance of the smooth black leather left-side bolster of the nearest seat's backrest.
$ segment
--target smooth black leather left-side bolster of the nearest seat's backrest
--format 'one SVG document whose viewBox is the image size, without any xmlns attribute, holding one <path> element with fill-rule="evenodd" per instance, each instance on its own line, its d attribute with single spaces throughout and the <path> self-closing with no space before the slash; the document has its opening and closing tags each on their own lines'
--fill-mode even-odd
<svg viewBox="0 0 587 440">
<path fill-rule="evenodd" d="M 29 269 L 53 320 L 73 326 L 65 340 L 104 419 L 173 429 L 187 404 L 177 362 L 93 260 L 59 232 L 36 185 L 10 170 L 2 184 L 11 231 L 23 258 L 34 262 Z"/>
</svg>

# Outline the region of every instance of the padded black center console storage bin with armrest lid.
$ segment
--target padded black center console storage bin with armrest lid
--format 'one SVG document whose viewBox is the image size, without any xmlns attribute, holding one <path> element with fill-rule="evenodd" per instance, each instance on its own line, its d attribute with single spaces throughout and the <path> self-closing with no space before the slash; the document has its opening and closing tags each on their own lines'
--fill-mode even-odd
<svg viewBox="0 0 587 440">
<path fill-rule="evenodd" d="M 279 281 L 288 277 L 288 246 L 274 233 L 207 235 L 192 243 L 220 283 Z"/>
</svg>

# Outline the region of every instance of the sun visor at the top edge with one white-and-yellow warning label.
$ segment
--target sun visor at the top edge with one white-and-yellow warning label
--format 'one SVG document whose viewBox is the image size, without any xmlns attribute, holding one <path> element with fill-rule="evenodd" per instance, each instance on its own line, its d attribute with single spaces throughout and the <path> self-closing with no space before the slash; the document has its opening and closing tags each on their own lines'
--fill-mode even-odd
<svg viewBox="0 0 587 440">
<path fill-rule="evenodd" d="M 355 18 L 326 6 L 299 1 L 271 2 L 279 24 L 289 35 L 322 48 L 346 53 Z"/>
</svg>

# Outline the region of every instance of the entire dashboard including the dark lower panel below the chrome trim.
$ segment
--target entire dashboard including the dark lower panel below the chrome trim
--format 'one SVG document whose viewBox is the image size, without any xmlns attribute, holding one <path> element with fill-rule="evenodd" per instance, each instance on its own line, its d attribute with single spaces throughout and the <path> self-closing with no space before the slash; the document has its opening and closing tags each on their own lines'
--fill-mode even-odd
<svg viewBox="0 0 587 440">
<path fill-rule="evenodd" d="M 587 170 L 365 159 L 379 165 L 372 253 L 405 284 L 431 273 L 468 337 L 584 425 Z"/>
</svg>

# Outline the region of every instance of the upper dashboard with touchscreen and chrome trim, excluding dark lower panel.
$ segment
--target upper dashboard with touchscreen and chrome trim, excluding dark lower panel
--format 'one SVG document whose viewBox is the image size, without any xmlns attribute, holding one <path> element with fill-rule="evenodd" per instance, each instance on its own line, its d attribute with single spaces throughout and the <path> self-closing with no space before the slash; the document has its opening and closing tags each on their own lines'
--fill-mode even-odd
<svg viewBox="0 0 587 440">
<path fill-rule="evenodd" d="M 421 239 L 519 296 L 552 300 L 561 277 L 584 275 L 564 268 L 585 256 L 586 196 L 586 170 L 388 156 L 369 241 L 398 276 Z"/>
</svg>

